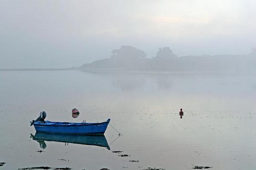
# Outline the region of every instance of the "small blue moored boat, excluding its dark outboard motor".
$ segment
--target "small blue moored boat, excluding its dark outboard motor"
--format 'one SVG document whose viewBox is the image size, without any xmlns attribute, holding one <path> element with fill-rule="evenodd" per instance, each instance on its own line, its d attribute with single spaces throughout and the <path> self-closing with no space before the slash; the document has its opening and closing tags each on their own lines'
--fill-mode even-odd
<svg viewBox="0 0 256 170">
<path fill-rule="evenodd" d="M 79 135 L 103 135 L 108 127 L 110 119 L 101 123 L 71 123 L 71 122 L 32 122 L 37 132 L 66 133 Z"/>
</svg>

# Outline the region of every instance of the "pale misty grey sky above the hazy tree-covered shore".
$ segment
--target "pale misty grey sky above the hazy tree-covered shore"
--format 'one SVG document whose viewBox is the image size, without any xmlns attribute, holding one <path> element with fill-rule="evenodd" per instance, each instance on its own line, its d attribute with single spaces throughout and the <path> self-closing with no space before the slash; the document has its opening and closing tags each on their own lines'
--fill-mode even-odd
<svg viewBox="0 0 256 170">
<path fill-rule="evenodd" d="M 121 45 L 247 54 L 255 16 L 255 0 L 0 0 L 0 68 L 80 66 Z"/>
</svg>

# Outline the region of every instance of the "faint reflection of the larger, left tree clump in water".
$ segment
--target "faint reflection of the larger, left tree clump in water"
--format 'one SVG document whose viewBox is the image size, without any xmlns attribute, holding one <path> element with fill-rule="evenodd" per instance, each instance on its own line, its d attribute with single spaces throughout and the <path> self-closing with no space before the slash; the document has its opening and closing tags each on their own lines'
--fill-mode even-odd
<svg viewBox="0 0 256 170">
<path fill-rule="evenodd" d="M 114 75 L 112 84 L 115 88 L 121 88 L 122 91 L 132 91 L 144 84 L 145 77 L 135 74 Z"/>
</svg>

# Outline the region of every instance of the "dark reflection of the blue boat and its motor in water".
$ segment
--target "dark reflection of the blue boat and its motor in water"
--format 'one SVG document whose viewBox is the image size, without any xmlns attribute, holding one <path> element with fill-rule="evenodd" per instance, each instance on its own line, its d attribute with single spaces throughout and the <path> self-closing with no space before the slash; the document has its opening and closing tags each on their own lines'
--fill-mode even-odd
<svg viewBox="0 0 256 170">
<path fill-rule="evenodd" d="M 37 141 L 41 149 L 47 147 L 45 141 L 64 142 L 73 144 L 94 145 L 100 147 L 106 147 L 110 150 L 107 139 L 104 135 L 73 135 L 73 134 L 61 134 L 61 133 L 43 133 L 36 132 L 35 135 L 30 134 L 30 138 Z M 65 144 L 66 145 L 66 144 Z"/>
</svg>

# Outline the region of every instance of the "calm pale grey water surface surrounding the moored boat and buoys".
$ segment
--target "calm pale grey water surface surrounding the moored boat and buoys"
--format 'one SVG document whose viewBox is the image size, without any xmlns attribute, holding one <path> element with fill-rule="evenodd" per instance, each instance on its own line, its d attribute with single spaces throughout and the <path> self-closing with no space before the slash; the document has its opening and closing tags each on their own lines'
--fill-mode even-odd
<svg viewBox="0 0 256 170">
<path fill-rule="evenodd" d="M 93 74 L 81 71 L 0 71 L 2 170 L 187 170 L 256 168 L 255 74 Z M 71 110 L 78 108 L 74 119 Z M 184 116 L 180 119 L 179 110 Z M 102 122 L 110 147 L 30 138 L 29 121 Z M 68 136 L 66 137 L 68 139 Z M 65 136 L 61 139 L 65 139 Z M 72 138 L 71 138 L 72 139 Z M 115 140 L 116 139 L 116 140 Z M 43 150 L 44 152 L 37 152 Z M 112 151 L 123 151 L 128 157 Z M 139 162 L 130 162 L 136 160 Z"/>
</svg>

